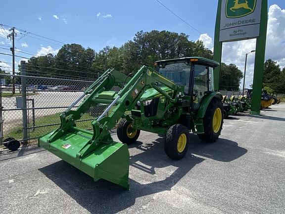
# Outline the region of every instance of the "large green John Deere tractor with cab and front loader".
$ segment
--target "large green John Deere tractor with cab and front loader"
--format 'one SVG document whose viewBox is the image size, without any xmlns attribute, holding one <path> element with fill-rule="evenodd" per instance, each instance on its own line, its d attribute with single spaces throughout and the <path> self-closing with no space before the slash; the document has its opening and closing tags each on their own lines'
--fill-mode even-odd
<svg viewBox="0 0 285 214">
<path fill-rule="evenodd" d="M 127 144 L 135 143 L 141 130 L 165 135 L 165 153 L 174 160 L 186 155 L 190 131 L 202 141 L 216 141 L 223 126 L 223 97 L 214 91 L 213 78 L 219 63 L 185 57 L 155 64 L 157 69 L 144 65 L 133 77 L 108 69 L 60 114 L 60 127 L 40 137 L 39 146 L 95 181 L 129 189 Z M 112 91 L 114 86 L 120 91 Z M 102 104 L 106 108 L 92 121 L 93 131 L 76 126 L 90 108 Z M 118 122 L 121 142 L 113 141 L 109 132 Z"/>
</svg>

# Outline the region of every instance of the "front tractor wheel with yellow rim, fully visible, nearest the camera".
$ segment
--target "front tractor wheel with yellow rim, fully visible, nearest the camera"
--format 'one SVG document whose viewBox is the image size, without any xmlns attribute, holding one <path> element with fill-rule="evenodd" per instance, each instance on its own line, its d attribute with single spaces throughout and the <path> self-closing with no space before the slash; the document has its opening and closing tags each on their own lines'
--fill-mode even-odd
<svg viewBox="0 0 285 214">
<path fill-rule="evenodd" d="M 179 140 L 182 140 L 182 142 L 179 143 Z M 189 144 L 188 128 L 184 125 L 176 124 L 167 131 L 164 151 L 169 158 L 180 160 L 186 155 Z"/>
</svg>

